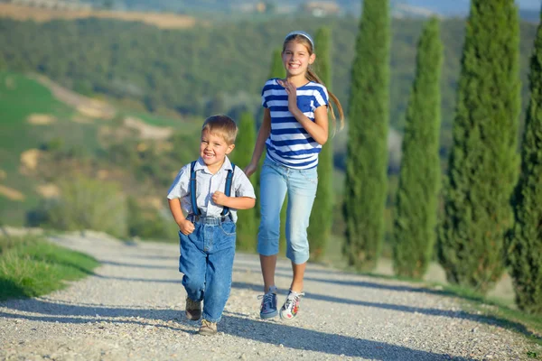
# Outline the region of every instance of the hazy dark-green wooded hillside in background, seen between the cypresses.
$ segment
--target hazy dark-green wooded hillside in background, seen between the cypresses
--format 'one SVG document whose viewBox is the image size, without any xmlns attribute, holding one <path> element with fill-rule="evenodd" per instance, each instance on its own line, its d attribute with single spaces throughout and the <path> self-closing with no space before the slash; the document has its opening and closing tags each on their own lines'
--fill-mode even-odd
<svg viewBox="0 0 542 361">
<path fill-rule="evenodd" d="M 423 23 L 412 19 L 394 19 L 392 23 L 390 120 L 398 131 L 403 127 Z M 323 25 L 332 28 L 332 88 L 348 108 L 350 64 L 358 29 L 353 18 L 322 18 L 315 23 L 310 17 L 279 17 L 167 31 L 96 18 L 51 23 L 0 19 L 0 69 L 37 71 L 81 94 L 133 99 L 151 112 L 165 107 L 182 115 L 235 115 L 247 107 L 259 114 L 259 94 L 271 53 L 280 47 L 285 32 L 298 28 L 315 32 Z M 444 154 L 451 142 L 463 26 L 463 20 L 458 19 L 442 24 Z M 536 24 L 521 24 L 524 99 L 535 31 Z"/>
</svg>

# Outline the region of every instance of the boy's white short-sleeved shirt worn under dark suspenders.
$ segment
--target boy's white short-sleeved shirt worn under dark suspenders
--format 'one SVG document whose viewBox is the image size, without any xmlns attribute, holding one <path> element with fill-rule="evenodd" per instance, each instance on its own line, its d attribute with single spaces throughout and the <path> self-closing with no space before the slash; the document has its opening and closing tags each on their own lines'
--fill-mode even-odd
<svg viewBox="0 0 542 361">
<path fill-rule="evenodd" d="M 228 171 L 233 169 L 228 157 L 224 159 L 224 164 L 215 174 L 210 173 L 207 165 L 200 158 L 196 162 L 194 169 L 196 171 L 196 203 L 201 210 L 201 215 L 206 217 L 220 217 L 222 206 L 212 201 L 212 195 L 220 190 L 225 193 L 226 177 Z M 173 184 L 167 193 L 167 199 L 181 199 L 181 208 L 188 214 L 192 212 L 192 202 L 190 194 L 190 163 L 181 168 L 181 171 L 173 180 Z M 233 172 L 231 180 L 231 194 L 229 197 L 248 197 L 256 199 L 254 187 L 248 180 L 245 172 L 237 165 Z M 229 208 L 234 222 L 237 221 L 237 209 Z"/>
</svg>

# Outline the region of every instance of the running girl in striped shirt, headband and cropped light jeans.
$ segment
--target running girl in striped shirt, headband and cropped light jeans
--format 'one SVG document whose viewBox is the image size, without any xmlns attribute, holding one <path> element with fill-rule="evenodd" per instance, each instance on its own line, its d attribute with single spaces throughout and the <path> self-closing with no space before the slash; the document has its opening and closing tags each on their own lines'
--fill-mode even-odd
<svg viewBox="0 0 542 361">
<path fill-rule="evenodd" d="M 266 159 L 260 177 L 261 222 L 257 251 L 264 278 L 262 319 L 277 315 L 275 286 L 280 209 L 288 194 L 286 209 L 286 256 L 292 261 L 294 277 L 280 310 L 282 319 L 294 319 L 303 293 L 304 270 L 309 259 L 307 227 L 316 195 L 318 153 L 328 139 L 328 95 L 343 122 L 341 103 L 328 92 L 311 69 L 316 59 L 314 42 L 306 32 L 285 37 L 282 60 L 285 79 L 269 79 L 262 89 L 265 107 L 252 160 L 245 169 L 250 176 L 266 145 Z M 332 106 L 333 125 L 335 116 Z"/>
</svg>

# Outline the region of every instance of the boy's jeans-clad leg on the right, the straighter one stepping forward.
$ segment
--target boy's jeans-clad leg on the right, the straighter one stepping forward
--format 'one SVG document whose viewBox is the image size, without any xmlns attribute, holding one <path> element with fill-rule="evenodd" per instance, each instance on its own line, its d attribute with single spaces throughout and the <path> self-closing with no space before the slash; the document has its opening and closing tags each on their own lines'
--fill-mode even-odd
<svg viewBox="0 0 542 361">
<path fill-rule="evenodd" d="M 224 222 L 212 227 L 212 243 L 208 245 L 203 319 L 216 323 L 222 317 L 231 289 L 231 273 L 235 257 L 236 226 Z"/>
</svg>

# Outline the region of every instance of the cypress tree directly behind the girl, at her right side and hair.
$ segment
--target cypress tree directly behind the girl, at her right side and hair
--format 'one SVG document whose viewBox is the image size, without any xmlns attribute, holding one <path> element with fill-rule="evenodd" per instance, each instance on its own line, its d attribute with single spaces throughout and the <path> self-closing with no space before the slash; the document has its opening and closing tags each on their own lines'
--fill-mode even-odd
<svg viewBox="0 0 542 361">
<path fill-rule="evenodd" d="M 314 38 L 317 58 L 316 73 L 322 79 L 322 82 L 331 90 L 332 72 L 331 72 L 331 31 L 327 27 L 322 27 L 316 32 Z M 318 261 L 327 245 L 327 241 L 332 234 L 332 213 L 333 213 L 333 129 L 330 126 L 330 133 L 327 142 L 322 147 L 322 152 L 318 159 L 318 190 L 316 190 L 316 199 L 314 199 L 313 211 L 307 230 L 309 245 L 311 250 L 311 259 Z"/>
</svg>

